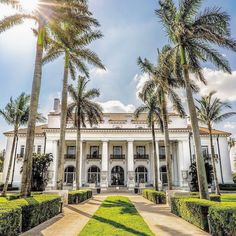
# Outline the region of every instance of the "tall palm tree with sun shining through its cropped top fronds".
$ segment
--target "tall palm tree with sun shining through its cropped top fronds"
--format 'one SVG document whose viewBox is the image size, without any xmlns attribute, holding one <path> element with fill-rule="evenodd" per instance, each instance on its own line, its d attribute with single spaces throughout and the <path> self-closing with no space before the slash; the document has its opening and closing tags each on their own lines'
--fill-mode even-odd
<svg viewBox="0 0 236 236">
<path fill-rule="evenodd" d="M 24 9 L 20 0 L 0 0 L 2 4 L 8 4 L 18 9 L 18 13 L 5 17 L 0 21 L 0 33 L 23 23 L 25 19 L 31 19 L 38 25 L 35 69 L 31 91 L 30 112 L 26 137 L 26 153 L 23 162 L 21 195 L 29 196 L 31 189 L 31 173 L 32 171 L 32 152 L 34 145 L 35 124 L 38 110 L 38 101 L 41 88 L 42 77 L 42 60 L 44 46 L 47 44 L 47 36 L 50 33 L 60 34 L 60 25 L 68 24 L 73 30 L 84 31 L 89 30 L 91 26 L 98 26 L 97 20 L 91 17 L 88 10 L 87 1 L 85 0 L 50 0 L 38 1 L 38 6 L 31 12 Z"/>
</svg>

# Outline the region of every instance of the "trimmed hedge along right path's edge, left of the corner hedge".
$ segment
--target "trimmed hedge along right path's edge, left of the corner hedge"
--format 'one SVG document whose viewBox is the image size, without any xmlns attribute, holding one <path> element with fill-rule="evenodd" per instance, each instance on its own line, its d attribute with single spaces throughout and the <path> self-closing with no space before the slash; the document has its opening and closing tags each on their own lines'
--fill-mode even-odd
<svg viewBox="0 0 236 236">
<path fill-rule="evenodd" d="M 196 225 L 197 227 L 208 231 L 208 210 L 215 203 L 208 200 L 188 197 L 172 197 L 171 212 L 184 220 Z"/>
</svg>

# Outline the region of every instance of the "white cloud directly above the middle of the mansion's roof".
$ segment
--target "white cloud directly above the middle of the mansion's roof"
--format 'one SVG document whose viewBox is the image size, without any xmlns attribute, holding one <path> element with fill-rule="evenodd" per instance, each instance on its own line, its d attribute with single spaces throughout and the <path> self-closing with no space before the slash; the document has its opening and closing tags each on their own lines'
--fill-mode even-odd
<svg viewBox="0 0 236 236">
<path fill-rule="evenodd" d="M 107 102 L 98 102 L 100 106 L 103 108 L 103 112 L 109 113 L 126 113 L 126 112 L 134 112 L 135 106 L 133 104 L 125 105 L 121 101 L 118 100 L 110 100 Z"/>
</svg>

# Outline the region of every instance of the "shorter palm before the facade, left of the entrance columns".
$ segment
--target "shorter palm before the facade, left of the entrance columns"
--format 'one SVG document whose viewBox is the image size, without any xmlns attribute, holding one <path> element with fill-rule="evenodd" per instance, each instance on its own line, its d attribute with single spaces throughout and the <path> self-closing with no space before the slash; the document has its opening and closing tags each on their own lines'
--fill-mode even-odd
<svg viewBox="0 0 236 236">
<path fill-rule="evenodd" d="M 86 77 L 79 76 L 77 87 L 69 86 L 68 91 L 73 100 L 68 105 L 68 118 L 74 120 L 74 126 L 77 129 L 76 140 L 76 189 L 80 188 L 80 143 L 81 128 L 86 127 L 88 123 L 91 127 L 102 121 L 102 108 L 94 101 L 99 97 L 100 92 L 97 89 L 86 90 L 89 80 Z"/>
</svg>

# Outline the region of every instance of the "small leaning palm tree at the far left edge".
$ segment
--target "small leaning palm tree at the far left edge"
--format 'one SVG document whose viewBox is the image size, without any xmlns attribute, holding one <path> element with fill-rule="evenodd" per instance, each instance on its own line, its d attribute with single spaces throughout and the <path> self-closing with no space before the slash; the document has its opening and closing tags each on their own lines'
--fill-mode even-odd
<svg viewBox="0 0 236 236">
<path fill-rule="evenodd" d="M 13 142 L 11 148 L 11 154 L 7 169 L 7 175 L 2 191 L 2 195 L 5 196 L 8 188 L 8 183 L 10 179 L 12 163 L 14 159 L 14 150 L 16 149 L 16 142 L 18 139 L 18 130 L 20 126 L 25 125 L 28 122 L 29 110 L 30 110 L 30 96 L 22 93 L 18 98 L 13 100 L 10 98 L 10 102 L 6 105 L 4 110 L 0 110 L 0 115 L 6 120 L 9 125 L 14 127 L 13 130 Z M 43 122 L 45 118 L 41 115 L 38 115 L 38 121 Z"/>
</svg>

